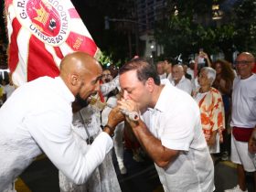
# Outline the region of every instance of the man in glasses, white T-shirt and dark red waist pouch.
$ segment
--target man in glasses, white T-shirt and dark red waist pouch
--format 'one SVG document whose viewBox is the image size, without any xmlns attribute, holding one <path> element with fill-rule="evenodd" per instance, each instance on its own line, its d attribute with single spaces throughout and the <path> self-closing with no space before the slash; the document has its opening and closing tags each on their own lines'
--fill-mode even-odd
<svg viewBox="0 0 256 192">
<path fill-rule="evenodd" d="M 251 149 L 251 133 L 256 128 L 256 75 L 252 73 L 255 58 L 251 53 L 240 53 L 235 61 L 238 77 L 233 82 L 231 123 L 231 161 L 237 164 L 238 186 L 225 190 L 240 192 L 246 190 L 245 171 L 254 173 L 256 181 L 255 155 Z M 256 186 L 256 182 L 254 183 Z"/>
</svg>

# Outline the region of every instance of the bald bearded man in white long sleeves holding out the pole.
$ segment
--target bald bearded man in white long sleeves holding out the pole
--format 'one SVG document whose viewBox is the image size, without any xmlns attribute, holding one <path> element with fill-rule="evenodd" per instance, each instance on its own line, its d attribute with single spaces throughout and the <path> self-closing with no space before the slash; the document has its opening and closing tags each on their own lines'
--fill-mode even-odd
<svg viewBox="0 0 256 192">
<path fill-rule="evenodd" d="M 0 109 L 1 192 L 15 191 L 14 179 L 42 153 L 76 184 L 84 183 L 101 164 L 112 149 L 113 127 L 123 121 L 123 115 L 117 110 L 110 113 L 86 155 L 71 131 L 72 102 L 75 98 L 86 101 L 99 91 L 101 73 L 96 59 L 75 52 L 61 61 L 59 77 L 28 82 L 5 102 Z"/>
</svg>

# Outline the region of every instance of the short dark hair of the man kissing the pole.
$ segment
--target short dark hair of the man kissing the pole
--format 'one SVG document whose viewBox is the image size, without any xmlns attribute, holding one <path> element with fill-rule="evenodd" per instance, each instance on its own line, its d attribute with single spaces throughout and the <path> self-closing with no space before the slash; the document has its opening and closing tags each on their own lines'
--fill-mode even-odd
<svg viewBox="0 0 256 192">
<path fill-rule="evenodd" d="M 145 59 L 138 58 L 126 62 L 120 69 L 119 74 L 122 75 L 130 70 L 137 71 L 138 80 L 145 82 L 148 78 L 153 78 L 155 84 L 160 85 L 160 78 L 155 69 L 155 65 L 148 63 Z"/>
</svg>

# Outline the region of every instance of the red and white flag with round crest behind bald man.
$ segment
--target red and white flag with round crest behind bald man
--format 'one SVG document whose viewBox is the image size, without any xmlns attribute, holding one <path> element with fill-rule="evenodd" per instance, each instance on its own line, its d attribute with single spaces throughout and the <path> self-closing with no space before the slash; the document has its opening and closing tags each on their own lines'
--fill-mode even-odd
<svg viewBox="0 0 256 192">
<path fill-rule="evenodd" d="M 5 0 L 5 15 L 16 86 L 58 76 L 60 60 L 71 52 L 100 54 L 70 0 Z"/>
</svg>

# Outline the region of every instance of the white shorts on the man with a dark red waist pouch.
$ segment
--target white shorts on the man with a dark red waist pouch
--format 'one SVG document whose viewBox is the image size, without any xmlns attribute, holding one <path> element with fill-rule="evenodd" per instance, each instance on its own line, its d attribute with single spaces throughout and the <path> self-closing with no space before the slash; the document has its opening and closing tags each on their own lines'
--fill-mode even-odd
<svg viewBox="0 0 256 192">
<path fill-rule="evenodd" d="M 237 141 L 231 134 L 231 161 L 235 164 L 243 165 L 247 172 L 256 171 L 255 155 L 248 151 L 248 143 Z"/>
</svg>

